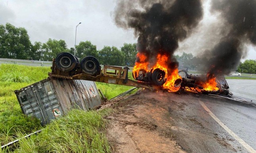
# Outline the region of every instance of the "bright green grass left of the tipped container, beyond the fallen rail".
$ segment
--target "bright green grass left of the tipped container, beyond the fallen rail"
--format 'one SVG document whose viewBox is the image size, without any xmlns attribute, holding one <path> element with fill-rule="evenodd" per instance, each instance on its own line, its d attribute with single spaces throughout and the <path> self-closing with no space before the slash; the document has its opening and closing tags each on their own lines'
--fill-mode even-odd
<svg viewBox="0 0 256 153">
<path fill-rule="evenodd" d="M 0 142 L 12 140 L 16 131 L 29 133 L 40 129 L 40 121 L 21 112 L 14 90 L 47 77 L 50 67 L 0 65 Z"/>
</svg>

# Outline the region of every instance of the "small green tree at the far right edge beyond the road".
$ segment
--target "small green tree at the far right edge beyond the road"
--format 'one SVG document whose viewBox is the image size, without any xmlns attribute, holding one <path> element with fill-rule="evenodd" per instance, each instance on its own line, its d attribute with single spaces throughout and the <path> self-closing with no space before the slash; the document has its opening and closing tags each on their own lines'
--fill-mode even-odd
<svg viewBox="0 0 256 153">
<path fill-rule="evenodd" d="M 237 71 L 240 73 L 256 74 L 256 60 L 245 60 L 239 65 Z"/>
</svg>

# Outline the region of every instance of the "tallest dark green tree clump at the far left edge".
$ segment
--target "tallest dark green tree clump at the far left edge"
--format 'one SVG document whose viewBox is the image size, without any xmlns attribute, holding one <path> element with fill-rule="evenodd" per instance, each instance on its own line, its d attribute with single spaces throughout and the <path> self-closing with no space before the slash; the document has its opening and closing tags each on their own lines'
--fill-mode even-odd
<svg viewBox="0 0 256 153">
<path fill-rule="evenodd" d="M 31 41 L 25 28 L 0 25 L 0 58 L 29 59 Z"/>
</svg>

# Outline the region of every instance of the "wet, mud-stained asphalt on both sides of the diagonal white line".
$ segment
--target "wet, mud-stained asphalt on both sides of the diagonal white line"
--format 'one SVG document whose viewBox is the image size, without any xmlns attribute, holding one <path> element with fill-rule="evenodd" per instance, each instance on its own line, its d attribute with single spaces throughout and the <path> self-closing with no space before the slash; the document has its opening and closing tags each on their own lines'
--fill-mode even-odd
<svg viewBox="0 0 256 153">
<path fill-rule="evenodd" d="M 251 152 L 256 150 L 256 107 L 222 97 L 183 95 L 176 103 L 168 104 L 175 121 L 176 141 L 188 152 Z M 235 133 L 241 144 L 229 131 L 209 114 L 203 103 L 218 119 Z M 177 110 L 177 106 L 183 109 Z M 176 130 L 177 129 L 177 130 Z M 249 146 L 249 147 L 248 147 Z"/>
</svg>

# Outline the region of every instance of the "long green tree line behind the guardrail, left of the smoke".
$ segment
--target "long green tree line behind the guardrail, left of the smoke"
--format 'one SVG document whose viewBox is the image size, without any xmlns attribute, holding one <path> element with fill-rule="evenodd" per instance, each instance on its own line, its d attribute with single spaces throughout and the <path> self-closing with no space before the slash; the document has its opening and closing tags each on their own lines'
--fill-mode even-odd
<svg viewBox="0 0 256 153">
<path fill-rule="evenodd" d="M 64 40 L 48 39 L 46 43 L 36 41 L 31 43 L 27 30 L 15 27 L 10 23 L 0 25 L 0 58 L 20 60 L 52 61 L 52 58 L 61 52 L 74 54 L 75 48 L 67 48 Z M 96 57 L 101 64 L 134 66 L 136 60 L 136 44 L 124 43 L 121 49 L 104 46 L 97 50 L 90 41 L 81 41 L 76 45 L 76 56 L 79 59 L 85 56 Z"/>
</svg>

